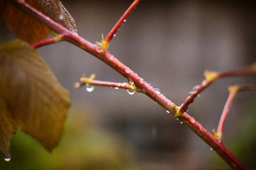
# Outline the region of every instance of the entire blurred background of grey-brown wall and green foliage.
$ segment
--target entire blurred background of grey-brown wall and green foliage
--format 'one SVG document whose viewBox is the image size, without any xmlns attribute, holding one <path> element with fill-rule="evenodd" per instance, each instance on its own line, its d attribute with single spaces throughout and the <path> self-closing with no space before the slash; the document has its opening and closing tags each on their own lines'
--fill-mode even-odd
<svg viewBox="0 0 256 170">
<path fill-rule="evenodd" d="M 95 43 L 108 35 L 133 1 L 61 1 L 79 35 Z M 241 69 L 256 61 L 254 1 L 141 1 L 109 51 L 176 105 L 204 79 L 204 71 Z M 0 43 L 16 39 L 0 24 Z M 69 90 L 72 107 L 60 145 L 48 153 L 18 131 L 12 159 L 0 169 L 230 169 L 197 135 L 147 96 L 125 90 L 74 88 L 80 77 L 127 82 L 97 58 L 69 44 L 39 49 Z M 256 83 L 256 76 L 218 80 L 188 114 L 217 129 L 227 87 Z M 249 169 L 256 159 L 256 91 L 238 94 L 224 127 L 224 145 Z"/>
</svg>

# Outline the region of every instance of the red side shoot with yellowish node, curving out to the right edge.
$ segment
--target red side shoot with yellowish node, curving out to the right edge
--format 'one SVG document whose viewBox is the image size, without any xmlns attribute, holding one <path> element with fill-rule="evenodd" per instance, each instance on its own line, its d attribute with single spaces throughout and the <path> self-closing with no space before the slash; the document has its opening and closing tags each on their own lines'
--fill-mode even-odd
<svg viewBox="0 0 256 170">
<path fill-rule="evenodd" d="M 253 63 L 253 65 L 241 70 L 228 71 L 224 73 L 205 71 L 204 73 L 205 80 L 203 80 L 203 82 L 199 86 L 195 86 L 193 88 L 193 91 L 189 92 L 190 95 L 187 97 L 184 103 L 181 104 L 180 111 L 187 112 L 188 105 L 193 103 L 193 100 L 195 99 L 195 97 L 199 95 L 200 92 L 203 91 L 205 88 L 210 86 L 210 84 L 212 84 L 215 80 L 231 77 L 231 76 L 243 76 L 243 75 L 250 75 L 255 73 L 256 73 L 256 63 Z"/>
</svg>

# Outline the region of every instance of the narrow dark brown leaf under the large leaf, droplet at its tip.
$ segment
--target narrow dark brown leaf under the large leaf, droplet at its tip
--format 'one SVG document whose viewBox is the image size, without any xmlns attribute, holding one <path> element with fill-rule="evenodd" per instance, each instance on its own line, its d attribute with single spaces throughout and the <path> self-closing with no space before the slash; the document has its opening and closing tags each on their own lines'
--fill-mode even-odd
<svg viewBox="0 0 256 170">
<path fill-rule="evenodd" d="M 11 158 L 10 146 L 13 135 L 16 133 L 17 125 L 9 111 L 5 100 L 0 96 L 0 151 L 3 152 L 5 158 Z"/>
</svg>

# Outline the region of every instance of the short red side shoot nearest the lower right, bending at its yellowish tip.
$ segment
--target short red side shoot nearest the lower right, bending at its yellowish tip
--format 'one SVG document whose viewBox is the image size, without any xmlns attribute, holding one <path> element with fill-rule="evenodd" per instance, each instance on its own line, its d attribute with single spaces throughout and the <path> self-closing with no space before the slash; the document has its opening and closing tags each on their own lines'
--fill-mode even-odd
<svg viewBox="0 0 256 170">
<path fill-rule="evenodd" d="M 220 143 L 222 143 L 222 134 L 223 134 L 224 124 L 226 121 L 226 117 L 228 116 L 231 104 L 234 100 L 234 97 L 236 96 L 237 92 L 245 91 L 245 90 L 253 90 L 253 84 L 246 84 L 243 86 L 238 86 L 238 85 L 230 86 L 228 88 L 228 90 L 229 90 L 229 97 L 228 97 L 228 100 L 226 101 L 225 107 L 221 114 L 220 122 L 218 124 L 217 133 L 213 130 L 213 136 L 216 139 L 218 139 Z"/>
</svg>

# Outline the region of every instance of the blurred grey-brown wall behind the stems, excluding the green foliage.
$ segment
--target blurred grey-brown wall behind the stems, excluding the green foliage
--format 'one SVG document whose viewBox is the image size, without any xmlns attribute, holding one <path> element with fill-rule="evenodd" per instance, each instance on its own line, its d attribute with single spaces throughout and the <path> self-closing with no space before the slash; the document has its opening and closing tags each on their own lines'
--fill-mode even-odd
<svg viewBox="0 0 256 170">
<path fill-rule="evenodd" d="M 62 1 L 79 35 L 95 43 L 112 29 L 133 1 Z M 204 70 L 240 69 L 255 62 L 254 1 L 141 1 L 118 31 L 109 51 L 175 104 L 183 103 Z M 1 27 L 3 24 L 1 23 Z M 11 39 L 5 36 L 6 39 Z M 71 92 L 72 107 L 93 113 L 103 128 L 138 148 L 135 162 L 199 168 L 215 153 L 184 125 L 142 94 L 96 87 L 75 90 L 82 74 L 126 82 L 97 58 L 61 42 L 39 49 L 60 83 Z M 195 99 L 189 114 L 207 130 L 216 129 L 228 85 L 255 83 L 255 76 L 218 80 Z M 255 91 L 239 94 L 225 125 L 225 140 L 236 135 L 242 107 L 255 103 Z M 72 116 L 72 114 L 70 115 Z M 184 161 L 184 159 L 186 159 Z M 192 167 L 191 167 L 192 166 Z"/>
</svg>

